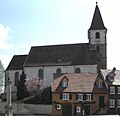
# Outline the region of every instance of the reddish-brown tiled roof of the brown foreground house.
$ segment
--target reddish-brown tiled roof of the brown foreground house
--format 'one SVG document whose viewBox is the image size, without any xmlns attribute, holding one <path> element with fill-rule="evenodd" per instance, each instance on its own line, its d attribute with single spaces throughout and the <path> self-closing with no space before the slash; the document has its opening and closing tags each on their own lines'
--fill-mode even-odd
<svg viewBox="0 0 120 116">
<path fill-rule="evenodd" d="M 68 78 L 68 87 L 62 89 L 59 85 L 64 77 Z M 58 78 L 54 78 L 52 84 L 52 92 L 93 92 L 94 83 L 98 74 L 64 74 Z"/>
</svg>

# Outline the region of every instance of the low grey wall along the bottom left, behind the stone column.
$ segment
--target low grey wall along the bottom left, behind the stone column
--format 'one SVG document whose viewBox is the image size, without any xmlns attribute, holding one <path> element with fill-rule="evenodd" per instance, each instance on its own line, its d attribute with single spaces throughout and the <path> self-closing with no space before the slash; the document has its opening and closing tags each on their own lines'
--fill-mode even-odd
<svg viewBox="0 0 120 116">
<path fill-rule="evenodd" d="M 6 102 L 0 102 L 0 114 L 5 113 Z M 12 103 L 13 113 L 16 115 L 50 115 L 52 105 L 33 105 L 23 103 Z"/>
</svg>

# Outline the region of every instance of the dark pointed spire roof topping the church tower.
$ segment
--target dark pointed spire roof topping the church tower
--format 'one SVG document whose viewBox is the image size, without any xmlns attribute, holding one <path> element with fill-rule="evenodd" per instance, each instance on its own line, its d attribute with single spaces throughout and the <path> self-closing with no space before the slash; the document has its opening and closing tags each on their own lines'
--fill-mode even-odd
<svg viewBox="0 0 120 116">
<path fill-rule="evenodd" d="M 106 29 L 106 27 L 104 26 L 99 7 L 96 3 L 95 12 L 89 30 L 101 30 L 101 29 Z"/>
</svg>

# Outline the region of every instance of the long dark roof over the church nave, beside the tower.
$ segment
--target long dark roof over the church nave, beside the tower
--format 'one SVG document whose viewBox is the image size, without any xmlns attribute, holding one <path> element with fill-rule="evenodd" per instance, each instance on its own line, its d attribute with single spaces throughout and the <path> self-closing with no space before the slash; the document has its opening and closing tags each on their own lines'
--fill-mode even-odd
<svg viewBox="0 0 120 116">
<path fill-rule="evenodd" d="M 26 58 L 24 66 L 97 64 L 97 51 L 89 50 L 89 44 L 63 44 L 35 46 Z"/>
</svg>

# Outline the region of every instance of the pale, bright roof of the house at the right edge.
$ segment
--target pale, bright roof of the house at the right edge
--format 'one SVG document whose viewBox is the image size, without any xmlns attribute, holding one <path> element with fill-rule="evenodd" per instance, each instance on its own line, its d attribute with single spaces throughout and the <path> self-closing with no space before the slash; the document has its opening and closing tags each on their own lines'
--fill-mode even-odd
<svg viewBox="0 0 120 116">
<path fill-rule="evenodd" d="M 110 73 L 111 71 L 112 70 L 102 70 L 101 69 L 104 79 L 106 79 L 107 74 Z M 116 74 L 116 76 L 114 76 L 114 81 L 113 81 L 112 85 L 120 85 L 120 70 L 116 70 L 115 74 Z"/>
</svg>

